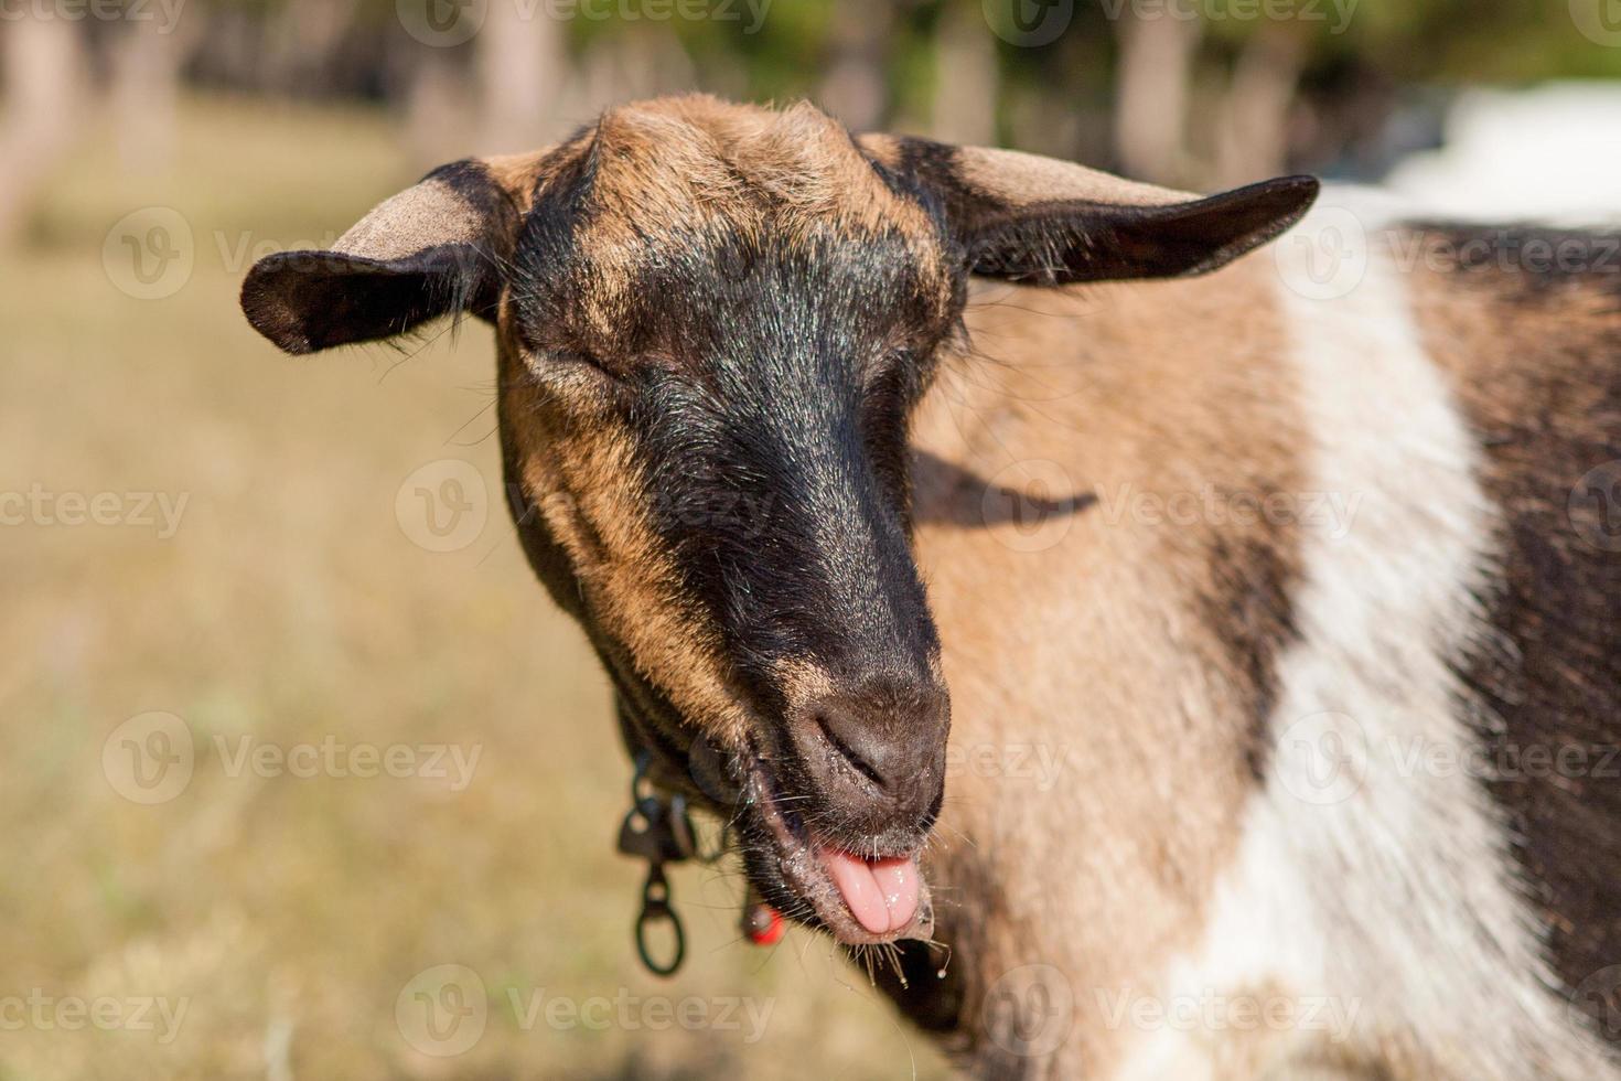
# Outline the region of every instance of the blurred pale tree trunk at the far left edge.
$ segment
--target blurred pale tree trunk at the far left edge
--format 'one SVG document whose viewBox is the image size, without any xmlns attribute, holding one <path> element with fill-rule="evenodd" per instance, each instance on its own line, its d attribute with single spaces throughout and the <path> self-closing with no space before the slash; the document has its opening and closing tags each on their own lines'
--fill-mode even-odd
<svg viewBox="0 0 1621 1081">
<path fill-rule="evenodd" d="M 16 238 L 39 186 L 73 144 L 88 96 L 78 23 L 8 21 L 0 34 L 0 245 Z"/>
</svg>

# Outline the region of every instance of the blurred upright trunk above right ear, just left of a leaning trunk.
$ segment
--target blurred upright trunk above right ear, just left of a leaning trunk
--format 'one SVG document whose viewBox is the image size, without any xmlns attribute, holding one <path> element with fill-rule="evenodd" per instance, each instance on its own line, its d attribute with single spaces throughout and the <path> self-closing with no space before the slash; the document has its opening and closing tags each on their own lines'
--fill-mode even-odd
<svg viewBox="0 0 1621 1081">
<path fill-rule="evenodd" d="M 1203 21 L 1169 10 L 1120 19 L 1115 149 L 1122 169 L 1140 180 L 1187 183 L 1188 88 L 1203 34 Z"/>
</svg>

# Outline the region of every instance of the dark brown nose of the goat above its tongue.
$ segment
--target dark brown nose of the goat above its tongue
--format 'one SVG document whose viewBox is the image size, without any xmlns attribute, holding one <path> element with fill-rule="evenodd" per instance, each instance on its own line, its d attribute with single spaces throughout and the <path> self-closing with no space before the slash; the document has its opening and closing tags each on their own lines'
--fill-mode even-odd
<svg viewBox="0 0 1621 1081">
<path fill-rule="evenodd" d="M 880 686 L 823 695 L 789 720 L 810 775 L 830 796 L 916 810 L 939 791 L 950 708 L 934 687 Z"/>
</svg>

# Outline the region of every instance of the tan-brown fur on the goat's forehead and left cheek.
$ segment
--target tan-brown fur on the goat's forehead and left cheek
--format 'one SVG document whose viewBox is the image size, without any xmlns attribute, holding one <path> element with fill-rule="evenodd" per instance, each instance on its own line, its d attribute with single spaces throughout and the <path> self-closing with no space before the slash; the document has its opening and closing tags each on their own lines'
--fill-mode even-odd
<svg viewBox="0 0 1621 1081">
<path fill-rule="evenodd" d="M 550 157 L 486 162 L 525 207 L 525 191 L 543 194 L 582 164 L 595 170 L 574 288 L 584 319 L 546 331 L 546 340 L 562 348 L 608 358 L 626 352 L 622 316 L 640 300 L 631 290 L 648 232 L 775 229 L 804 241 L 835 235 L 861 243 L 862 235 L 900 230 L 913 238 L 914 258 L 935 266 L 940 303 L 947 301 L 945 269 L 926 216 L 898 199 L 848 133 L 810 105 L 778 113 L 707 96 L 639 102 L 609 110 L 588 136 Z M 509 387 L 503 428 L 511 428 L 509 454 L 525 499 L 569 551 L 587 605 L 611 629 L 626 664 L 684 716 L 700 718 L 723 746 L 736 746 L 747 716 L 713 627 L 681 596 L 674 569 L 644 522 L 650 493 L 627 449 L 603 413 L 559 429 L 566 410 L 530 384 L 537 358 L 512 332 L 509 310 L 501 321 L 503 384 Z M 548 386 L 575 413 L 593 395 L 582 381 L 569 386 L 548 376 Z"/>
</svg>

